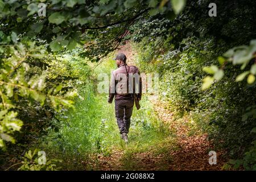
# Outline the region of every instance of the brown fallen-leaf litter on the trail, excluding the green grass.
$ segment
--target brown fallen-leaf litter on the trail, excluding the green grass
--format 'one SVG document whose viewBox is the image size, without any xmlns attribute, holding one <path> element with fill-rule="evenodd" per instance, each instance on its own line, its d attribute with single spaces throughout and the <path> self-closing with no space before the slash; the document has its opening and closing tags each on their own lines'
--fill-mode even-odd
<svg viewBox="0 0 256 182">
<path fill-rule="evenodd" d="M 135 52 L 131 48 L 130 43 L 125 46 L 120 46 L 118 52 L 123 52 L 127 56 L 127 64 L 134 65 Z M 161 166 L 166 166 L 167 170 L 221 170 L 224 165 L 224 160 L 221 158 L 222 152 L 217 152 L 217 164 L 210 165 L 208 152 L 213 149 L 207 139 L 207 134 L 189 135 L 189 127 L 186 118 L 182 122 L 175 121 L 170 110 L 165 108 L 167 104 L 157 100 L 155 97 L 150 98 L 154 105 L 154 110 L 161 121 L 170 126 L 176 134 L 177 150 L 167 151 L 166 154 L 153 155 L 150 149 L 147 152 L 139 152 L 133 154 L 132 160 L 135 160 L 140 170 L 159 170 Z M 122 169 L 121 160 L 123 152 L 115 151 L 111 156 L 98 157 L 100 169 L 118 170 Z"/>
</svg>

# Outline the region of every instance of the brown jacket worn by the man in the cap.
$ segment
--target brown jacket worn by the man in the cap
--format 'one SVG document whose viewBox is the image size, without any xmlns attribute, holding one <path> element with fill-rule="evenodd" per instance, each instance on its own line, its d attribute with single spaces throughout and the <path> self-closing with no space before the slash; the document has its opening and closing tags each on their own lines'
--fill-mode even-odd
<svg viewBox="0 0 256 182">
<path fill-rule="evenodd" d="M 134 94 L 137 94 L 138 99 L 141 100 L 142 79 L 139 69 L 135 66 L 121 64 L 112 72 L 109 86 L 109 102 L 113 101 L 114 96 L 115 100 L 133 100 Z"/>
</svg>

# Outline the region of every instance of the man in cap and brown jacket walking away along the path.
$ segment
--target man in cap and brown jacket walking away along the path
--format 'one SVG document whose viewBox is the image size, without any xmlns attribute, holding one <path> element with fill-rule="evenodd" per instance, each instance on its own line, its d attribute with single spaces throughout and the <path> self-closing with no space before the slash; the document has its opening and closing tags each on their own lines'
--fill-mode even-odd
<svg viewBox="0 0 256 182">
<path fill-rule="evenodd" d="M 138 102 L 142 97 L 142 79 L 137 67 L 126 64 L 125 54 L 118 53 L 114 60 L 118 68 L 112 72 L 108 102 L 111 104 L 115 97 L 115 118 L 121 137 L 127 143 L 134 100 L 139 109 Z"/>
</svg>

